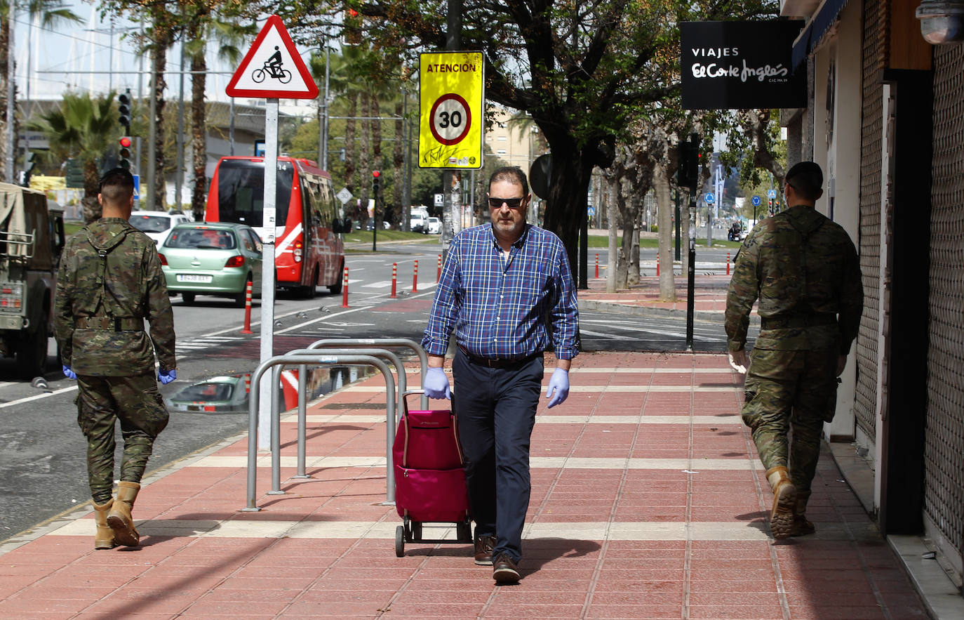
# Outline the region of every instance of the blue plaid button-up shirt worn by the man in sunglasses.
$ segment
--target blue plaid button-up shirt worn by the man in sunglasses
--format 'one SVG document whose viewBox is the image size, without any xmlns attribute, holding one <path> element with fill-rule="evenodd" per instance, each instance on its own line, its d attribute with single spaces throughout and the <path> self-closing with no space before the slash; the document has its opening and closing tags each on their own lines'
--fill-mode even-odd
<svg viewBox="0 0 964 620">
<path fill-rule="evenodd" d="M 559 237 L 526 225 L 506 259 L 491 224 L 452 239 L 422 338 L 444 356 L 448 337 L 469 354 L 524 358 L 554 345 L 560 360 L 579 352 L 576 286 Z M 551 336 L 549 334 L 551 323 Z"/>
</svg>

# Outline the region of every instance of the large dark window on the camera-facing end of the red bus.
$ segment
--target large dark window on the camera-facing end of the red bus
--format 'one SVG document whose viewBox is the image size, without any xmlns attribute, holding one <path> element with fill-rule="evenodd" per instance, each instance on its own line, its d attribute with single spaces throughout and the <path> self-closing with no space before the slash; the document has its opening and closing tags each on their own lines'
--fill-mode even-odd
<svg viewBox="0 0 964 620">
<path fill-rule="evenodd" d="M 283 227 L 288 218 L 294 167 L 278 162 L 275 191 L 275 225 Z M 225 159 L 218 169 L 218 211 L 222 222 L 236 222 L 260 228 L 264 209 L 264 162 Z"/>
</svg>

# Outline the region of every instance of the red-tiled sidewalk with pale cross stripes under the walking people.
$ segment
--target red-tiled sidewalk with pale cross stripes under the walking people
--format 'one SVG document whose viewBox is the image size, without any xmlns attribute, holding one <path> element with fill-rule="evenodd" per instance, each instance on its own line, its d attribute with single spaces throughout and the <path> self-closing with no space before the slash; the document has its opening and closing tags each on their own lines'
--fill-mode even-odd
<svg viewBox="0 0 964 620">
<path fill-rule="evenodd" d="M 496 587 L 469 545 L 395 556 L 376 376 L 309 406 L 309 479 L 291 478 L 297 419 L 282 418 L 284 495 L 267 495 L 262 454 L 260 512 L 240 511 L 242 435 L 145 480 L 140 549 L 94 552 L 89 506 L 9 541 L 0 616 L 927 617 L 828 453 L 808 511 L 817 534 L 773 544 L 741 384 L 723 355 L 578 356 L 569 399 L 543 399 L 533 432 L 516 586 Z"/>
</svg>

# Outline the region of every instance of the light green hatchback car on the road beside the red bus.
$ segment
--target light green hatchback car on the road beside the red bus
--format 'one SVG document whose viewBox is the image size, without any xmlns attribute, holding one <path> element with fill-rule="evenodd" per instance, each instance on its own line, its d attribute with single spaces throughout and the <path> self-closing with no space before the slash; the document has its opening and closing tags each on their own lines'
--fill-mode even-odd
<svg viewBox="0 0 964 620">
<path fill-rule="evenodd" d="M 261 239 L 250 226 L 197 222 L 179 224 L 158 248 L 169 293 L 185 304 L 196 295 L 230 297 L 243 308 L 245 291 L 261 292 Z"/>
</svg>

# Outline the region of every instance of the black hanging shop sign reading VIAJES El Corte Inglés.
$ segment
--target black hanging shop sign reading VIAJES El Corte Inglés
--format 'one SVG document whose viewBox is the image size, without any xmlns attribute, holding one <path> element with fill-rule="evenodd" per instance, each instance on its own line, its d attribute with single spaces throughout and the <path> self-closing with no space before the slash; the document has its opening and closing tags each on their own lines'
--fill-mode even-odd
<svg viewBox="0 0 964 620">
<path fill-rule="evenodd" d="M 807 68 L 790 62 L 802 20 L 684 21 L 683 108 L 803 108 Z"/>
</svg>

